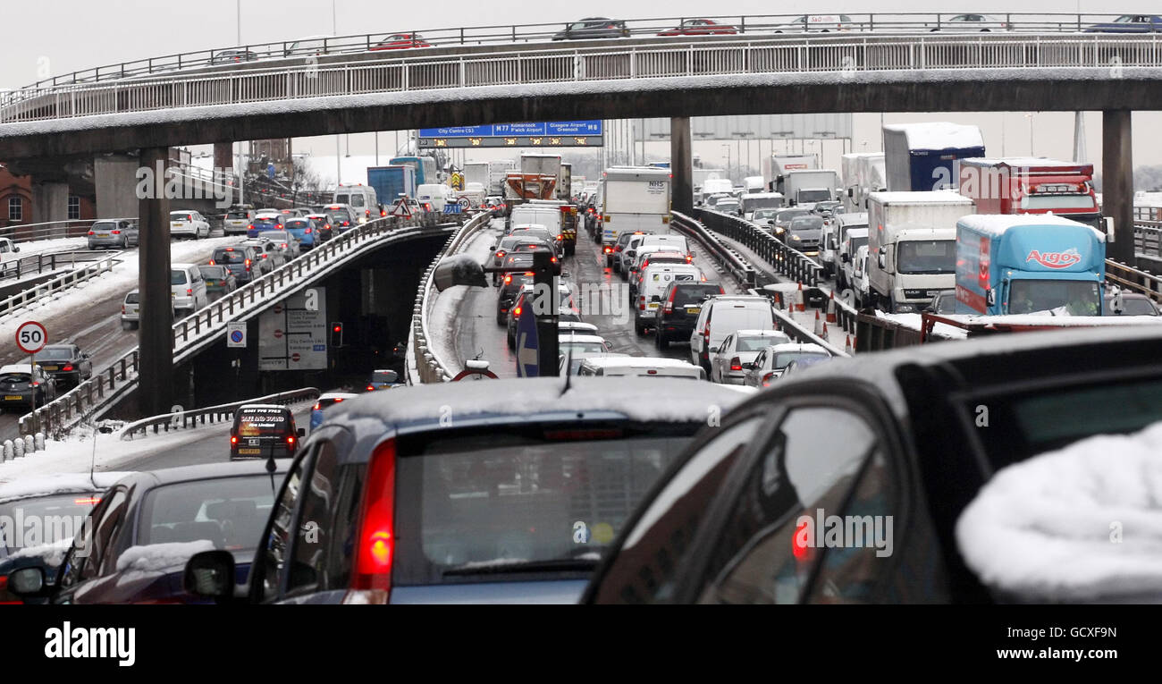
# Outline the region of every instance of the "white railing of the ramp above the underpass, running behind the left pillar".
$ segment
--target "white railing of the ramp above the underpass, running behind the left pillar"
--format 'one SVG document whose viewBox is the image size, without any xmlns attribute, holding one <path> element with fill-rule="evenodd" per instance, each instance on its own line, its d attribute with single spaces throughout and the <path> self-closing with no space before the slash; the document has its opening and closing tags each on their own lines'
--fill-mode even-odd
<svg viewBox="0 0 1162 684">
<path fill-rule="evenodd" d="M 414 237 L 433 227 L 444 226 L 435 215 L 408 222 L 396 218 L 376 219 L 347 230 L 322 247 L 290 261 L 274 271 L 256 278 L 229 295 L 215 300 L 206 308 L 173 323 L 174 362 L 196 351 L 201 344 L 225 330 L 225 323 L 260 311 L 272 297 L 288 293 L 306 280 L 339 268 L 358 255 L 373 241 Z M 411 230 L 408 230 L 408 229 Z M 86 415 L 95 414 L 132 390 L 137 383 L 138 348 L 114 361 L 108 368 L 93 373 L 56 400 L 27 413 L 20 419 L 20 432 L 43 432 L 60 436 Z"/>
</svg>

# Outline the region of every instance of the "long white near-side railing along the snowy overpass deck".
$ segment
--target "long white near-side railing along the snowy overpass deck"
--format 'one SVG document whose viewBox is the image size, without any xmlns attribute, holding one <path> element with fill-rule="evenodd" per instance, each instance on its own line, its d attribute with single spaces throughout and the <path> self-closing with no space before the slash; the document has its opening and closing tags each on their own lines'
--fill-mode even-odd
<svg viewBox="0 0 1162 684">
<path fill-rule="evenodd" d="M 713 38 L 713 40 L 711 40 Z M 275 69 L 228 70 L 166 79 L 38 86 L 0 98 L 0 123 L 153 112 L 329 95 L 459 90 L 535 83 L 584 83 L 755 73 L 1162 66 L 1157 34 L 1021 35 L 1009 31 L 873 36 L 816 35 L 658 41 L 623 47 L 530 48 L 469 55 L 382 58 Z M 417 56 L 418 52 L 418 56 Z M 21 130 L 20 134 L 31 133 Z"/>
</svg>

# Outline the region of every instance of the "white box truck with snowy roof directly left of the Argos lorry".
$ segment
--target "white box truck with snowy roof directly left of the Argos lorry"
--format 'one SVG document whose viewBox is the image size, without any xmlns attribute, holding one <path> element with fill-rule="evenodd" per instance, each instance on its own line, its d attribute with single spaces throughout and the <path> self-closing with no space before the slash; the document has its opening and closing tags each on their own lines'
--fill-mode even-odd
<svg viewBox="0 0 1162 684">
<path fill-rule="evenodd" d="M 916 313 L 956 285 L 956 221 L 973 200 L 952 191 L 874 192 L 868 199 L 869 298 Z"/>
</svg>

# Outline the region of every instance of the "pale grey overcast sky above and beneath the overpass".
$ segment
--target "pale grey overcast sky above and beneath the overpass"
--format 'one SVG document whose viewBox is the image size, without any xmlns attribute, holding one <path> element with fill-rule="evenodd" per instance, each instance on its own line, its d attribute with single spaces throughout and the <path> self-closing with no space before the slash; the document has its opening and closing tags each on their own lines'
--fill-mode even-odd
<svg viewBox="0 0 1162 684">
<path fill-rule="evenodd" d="M 397 30 L 423 30 L 459 26 L 500 26 L 507 23 L 561 23 L 581 16 L 618 16 L 623 19 L 653 16 L 704 16 L 711 7 L 705 0 L 669 0 L 664 6 L 643 0 L 587 0 L 584 3 L 530 3 L 528 0 L 443 0 L 442 2 L 383 2 L 382 0 L 335 0 L 336 29 L 339 35 L 363 33 L 388 33 Z M 0 87 L 20 87 L 42 78 L 48 72 L 64 73 L 79 69 L 112 64 L 120 60 L 141 59 L 202 49 L 214 49 L 236 43 L 238 31 L 237 8 L 242 9 L 243 42 L 273 42 L 294 40 L 308 35 L 330 34 L 332 29 L 331 0 L 200 0 L 198 2 L 158 2 L 156 0 L 51 0 L 50 2 L 5 2 L 5 21 L 9 27 L 6 35 L 5 59 L 0 62 Z M 868 12 L 924 12 L 945 13 L 984 12 L 1083 12 L 1111 16 L 1111 7 L 1118 13 L 1160 12 L 1157 2 L 1121 0 L 1117 7 L 1097 0 L 1024 0 L 1019 2 L 967 3 L 963 0 L 932 0 L 926 2 L 905 0 L 840 0 L 822 7 L 817 1 L 788 0 L 773 9 L 769 1 L 737 0 L 713 6 L 712 12 L 738 14 L 780 14 L 842 12 L 862 14 Z M 730 9 L 726 9 L 729 7 Z M 530 10 L 530 8 L 536 8 Z M 1095 16 L 1098 19 L 1098 16 Z M 978 123 L 984 133 L 990 155 L 1030 154 L 1030 119 L 1024 112 L 1002 114 L 885 114 L 884 121 L 938 121 Z M 1100 166 L 1100 114 L 1086 116 L 1089 159 Z M 1037 155 L 1068 158 L 1071 156 L 1073 115 L 1069 113 L 1041 113 L 1033 119 L 1033 149 Z M 475 123 L 466 121 L 462 123 Z M 1154 144 L 1153 135 L 1145 131 L 1157 130 L 1162 115 L 1143 112 L 1134 115 L 1134 128 L 1139 134 L 1134 140 L 1135 164 L 1162 164 L 1162 148 Z M 880 116 L 860 114 L 855 116 L 855 151 L 871 151 L 880 148 Z M 390 137 L 392 134 L 388 134 Z M 387 150 L 386 138 L 380 136 L 381 154 Z M 394 138 L 393 138 L 394 140 Z M 863 145 L 862 143 L 867 143 Z M 695 152 L 708 163 L 725 164 L 725 150 L 720 142 L 695 143 Z M 754 143 L 752 143 L 754 144 Z M 352 155 L 372 154 L 373 134 L 352 135 Z M 346 151 L 344 141 L 344 154 Z M 733 147 L 733 144 L 732 144 Z M 763 152 L 769 144 L 763 145 Z M 296 148 L 316 156 L 332 156 L 335 138 L 303 138 Z M 776 145 L 777 149 L 777 145 Z M 838 159 L 838 143 L 827 143 L 825 158 Z M 833 152 L 834 150 L 834 152 Z M 667 145 L 652 144 L 646 150 L 648 157 L 668 155 Z M 733 155 L 734 152 L 732 152 Z M 752 147 L 752 163 L 758 165 L 758 148 Z M 745 145 L 744 145 L 745 159 Z M 838 163 L 838 162 L 835 162 Z M 346 180 L 346 179 L 345 179 Z"/>
</svg>

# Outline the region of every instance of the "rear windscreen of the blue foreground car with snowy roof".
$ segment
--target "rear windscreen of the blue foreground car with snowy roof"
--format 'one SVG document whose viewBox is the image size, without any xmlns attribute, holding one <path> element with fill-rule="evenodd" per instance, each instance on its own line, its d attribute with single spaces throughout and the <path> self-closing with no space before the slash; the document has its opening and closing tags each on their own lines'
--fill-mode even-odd
<svg viewBox="0 0 1162 684">
<path fill-rule="evenodd" d="M 588 576 L 697 427 L 554 421 L 402 435 L 393 584 Z"/>
</svg>

